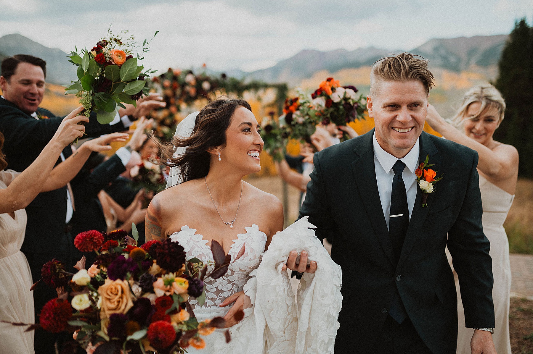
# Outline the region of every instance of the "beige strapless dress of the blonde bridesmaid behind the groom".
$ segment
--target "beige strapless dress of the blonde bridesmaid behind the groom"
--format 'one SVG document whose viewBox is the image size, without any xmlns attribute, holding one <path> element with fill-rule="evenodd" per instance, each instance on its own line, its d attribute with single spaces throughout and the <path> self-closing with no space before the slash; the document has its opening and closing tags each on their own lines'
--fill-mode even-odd
<svg viewBox="0 0 533 354">
<path fill-rule="evenodd" d="M 490 257 L 492 257 L 492 300 L 494 301 L 495 328 L 492 340 L 498 354 L 511 354 L 509 339 L 509 293 L 511 291 L 511 264 L 509 262 L 509 242 L 503 228 L 507 212 L 511 208 L 514 195 L 490 183 L 479 176 L 481 202 L 483 204 L 483 232 L 490 241 Z M 455 273 L 454 273 L 455 274 Z M 459 333 L 457 336 L 457 354 L 471 354 L 470 340 L 474 330 L 465 327 L 464 309 L 459 293 L 459 283 L 455 275 L 457 289 L 457 307 Z"/>
</svg>

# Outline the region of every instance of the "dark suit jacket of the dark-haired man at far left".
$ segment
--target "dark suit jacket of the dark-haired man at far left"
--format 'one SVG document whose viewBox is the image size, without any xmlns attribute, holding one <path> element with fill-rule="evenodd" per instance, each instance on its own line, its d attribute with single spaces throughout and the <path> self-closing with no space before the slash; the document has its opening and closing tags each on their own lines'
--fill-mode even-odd
<svg viewBox="0 0 533 354">
<path fill-rule="evenodd" d="M 50 119 L 37 120 L 21 111 L 17 105 L 0 97 L 0 131 L 5 141 L 3 152 L 7 159 L 7 169 L 25 170 L 41 153 L 44 146 L 58 130 L 63 117 L 55 117 L 48 110 L 39 108 L 37 114 Z M 87 137 L 127 130 L 122 122 L 115 125 L 101 125 L 95 116 L 85 125 Z M 65 158 L 72 153 L 70 146 L 63 149 Z M 61 160 L 58 160 L 58 163 Z M 55 191 L 39 193 L 26 207 L 28 223 L 23 252 L 49 253 L 57 248 L 64 234 L 67 216 L 67 187 Z"/>
</svg>

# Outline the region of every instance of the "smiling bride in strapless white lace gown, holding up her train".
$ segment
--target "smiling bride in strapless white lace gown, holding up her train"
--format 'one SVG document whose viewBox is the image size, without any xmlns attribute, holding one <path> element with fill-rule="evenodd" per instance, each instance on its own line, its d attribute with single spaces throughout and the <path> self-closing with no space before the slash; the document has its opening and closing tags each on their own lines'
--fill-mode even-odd
<svg viewBox="0 0 533 354">
<path fill-rule="evenodd" d="M 329 256 L 308 229 L 308 226 L 312 225 L 306 219 L 298 221 L 276 235 L 283 228 L 283 209 L 280 201 L 276 196 L 242 180 L 244 176 L 261 170 L 259 155 L 263 149 L 263 141 L 259 135 L 260 125 L 250 105 L 243 100 L 220 99 L 206 105 L 196 119 L 193 119 L 194 115 L 191 114 L 185 120 L 190 118 L 192 120 L 184 121 L 180 125 L 189 125 L 189 130 L 192 132 L 179 133 L 180 127 L 178 127 L 176 131 L 178 136 L 174 138 L 174 145 L 167 146 L 166 151 L 163 149 L 163 161 L 167 161 L 168 166 L 175 167 L 179 171 L 177 179 L 183 183 L 160 192 L 151 201 L 146 215 L 146 237 L 147 241 L 171 237 L 184 247 L 187 259 L 192 257 L 204 261 L 212 259 L 209 248 L 212 240 L 219 242 L 224 252 L 232 256 L 233 262 L 228 273 L 215 281 L 207 281 L 205 304 L 199 307 L 196 306 L 195 300 L 190 301 L 198 320 L 223 316 L 227 326 L 232 327 L 230 345 L 239 343 L 240 340 L 246 345 L 259 342 L 262 349 L 268 349 L 277 345 L 276 343 L 292 341 L 294 348 L 294 339 L 286 338 L 287 336 L 296 338 L 296 332 L 300 330 L 296 324 L 294 295 L 290 290 L 289 277 L 285 271 L 289 268 L 305 272 L 302 279 L 304 283 L 308 282 L 309 288 L 318 286 L 321 282 L 325 285 L 325 282 L 330 283 L 332 279 L 338 278 L 338 284 L 324 286 L 328 288 L 324 290 L 325 292 L 336 292 L 329 300 L 333 303 L 332 313 L 336 312 L 330 327 L 336 332 L 341 297 L 338 291 L 340 267 L 335 268 L 336 265 L 331 264 L 333 262 L 330 258 L 327 259 Z M 287 234 L 300 236 L 291 238 Z M 244 256 L 235 260 L 243 245 Z M 272 250 L 269 249 L 269 252 L 262 255 L 269 246 Z M 317 276 L 314 276 L 317 263 L 320 263 L 319 270 L 328 271 L 329 274 L 320 273 L 324 275 L 318 276 L 317 272 Z M 265 268 L 262 273 L 261 267 Z M 338 277 L 335 276 L 337 273 Z M 279 277 L 283 286 L 278 286 L 277 289 L 272 289 L 270 294 L 265 294 L 262 291 L 264 281 L 270 282 L 276 277 Z M 305 284 L 301 285 L 299 295 L 302 292 L 303 297 L 311 299 L 309 304 L 318 301 L 320 291 L 313 295 L 309 292 L 304 293 L 306 290 L 304 288 Z M 279 323 L 272 322 L 272 313 L 266 308 L 269 306 L 267 302 L 272 302 L 271 298 L 278 295 L 281 298 L 277 301 L 283 305 L 278 309 L 285 307 L 287 312 L 282 314 L 282 317 L 287 317 L 290 321 L 276 332 L 272 327 L 279 326 Z M 246 317 L 238 324 L 240 317 L 235 315 L 240 310 L 245 310 Z M 252 311 L 254 315 L 249 316 Z M 294 316 L 290 315 L 291 312 Z M 265 336 L 263 333 L 268 331 L 251 333 L 252 327 L 253 331 L 256 331 L 262 328 L 261 326 L 266 326 L 267 330 L 271 331 L 270 336 L 266 335 L 266 339 L 261 336 Z M 313 326 L 306 325 L 302 330 L 304 342 L 311 341 L 309 334 L 305 339 L 308 327 Z M 294 333 L 287 332 L 291 329 Z M 331 333 L 327 335 L 331 342 Z M 224 348 L 220 348 L 223 342 L 221 339 L 223 339 L 222 332 L 215 332 L 206 337 L 205 352 L 224 352 Z M 246 352 L 244 348 L 238 349 Z M 231 352 L 235 350 L 233 348 Z"/>
</svg>

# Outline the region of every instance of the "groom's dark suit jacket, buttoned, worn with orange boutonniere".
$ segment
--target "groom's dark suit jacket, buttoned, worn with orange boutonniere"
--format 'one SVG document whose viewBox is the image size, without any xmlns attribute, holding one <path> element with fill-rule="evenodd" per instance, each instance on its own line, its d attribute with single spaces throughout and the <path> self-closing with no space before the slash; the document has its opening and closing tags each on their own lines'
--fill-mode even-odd
<svg viewBox="0 0 533 354">
<path fill-rule="evenodd" d="M 459 276 L 467 327 L 494 327 L 490 244 L 481 225 L 478 154 L 422 133 L 420 160 L 442 180 L 422 208 L 418 188 L 399 260 L 383 216 L 374 169 L 374 130 L 314 155 L 300 217 L 332 236 L 342 267 L 336 353 L 365 353 L 399 292 L 416 331 L 433 353 L 455 353 L 457 297 L 446 245 Z M 320 266 L 320 265 L 319 265 Z"/>
</svg>

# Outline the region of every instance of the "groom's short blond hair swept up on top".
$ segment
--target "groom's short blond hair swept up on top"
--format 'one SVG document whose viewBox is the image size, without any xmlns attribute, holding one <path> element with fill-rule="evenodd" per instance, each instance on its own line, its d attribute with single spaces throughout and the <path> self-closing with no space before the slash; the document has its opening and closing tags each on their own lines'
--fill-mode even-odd
<svg viewBox="0 0 533 354">
<path fill-rule="evenodd" d="M 433 74 L 427 69 L 428 61 L 422 56 L 401 53 L 379 59 L 370 71 L 370 96 L 379 92 L 382 81 L 420 81 L 426 90 L 434 86 Z"/>
</svg>

